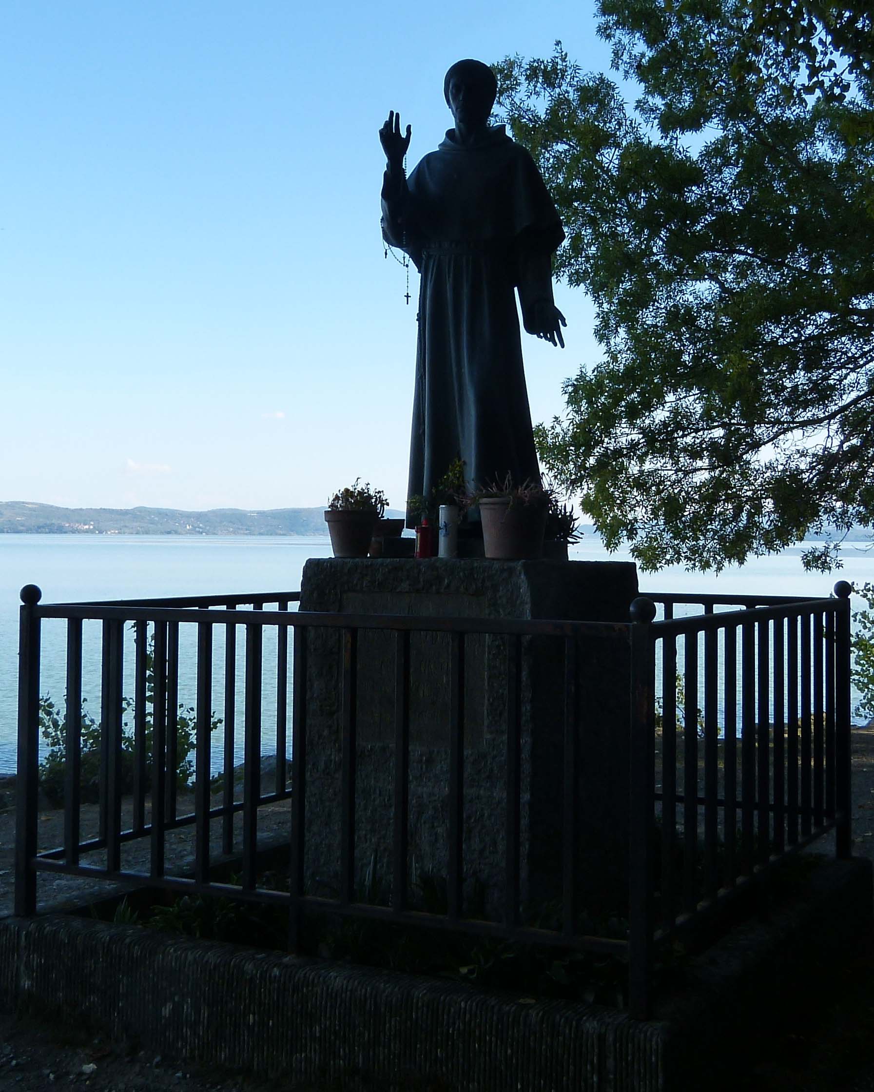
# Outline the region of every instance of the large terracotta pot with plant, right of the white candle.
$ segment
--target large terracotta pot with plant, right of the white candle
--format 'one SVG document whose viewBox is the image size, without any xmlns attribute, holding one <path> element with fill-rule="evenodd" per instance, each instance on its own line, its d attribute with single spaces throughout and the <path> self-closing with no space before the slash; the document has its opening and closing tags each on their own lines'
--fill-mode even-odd
<svg viewBox="0 0 874 1092">
<path fill-rule="evenodd" d="M 528 560 L 543 556 L 543 533 L 551 494 L 540 482 L 513 485 L 509 475 L 477 489 L 485 556 L 503 560 Z"/>
</svg>

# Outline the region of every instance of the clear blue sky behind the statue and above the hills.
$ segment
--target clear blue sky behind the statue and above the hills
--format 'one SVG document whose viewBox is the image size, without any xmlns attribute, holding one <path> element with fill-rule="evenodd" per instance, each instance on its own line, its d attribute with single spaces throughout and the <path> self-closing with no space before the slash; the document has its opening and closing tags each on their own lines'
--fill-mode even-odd
<svg viewBox="0 0 874 1092">
<path fill-rule="evenodd" d="M 282 508 L 361 475 L 402 506 L 415 298 L 377 131 L 400 110 L 414 164 L 450 63 L 556 38 L 609 68 L 590 0 L 5 0 L 0 500 Z M 598 354 L 584 296 L 556 302 L 534 420 Z"/>
</svg>

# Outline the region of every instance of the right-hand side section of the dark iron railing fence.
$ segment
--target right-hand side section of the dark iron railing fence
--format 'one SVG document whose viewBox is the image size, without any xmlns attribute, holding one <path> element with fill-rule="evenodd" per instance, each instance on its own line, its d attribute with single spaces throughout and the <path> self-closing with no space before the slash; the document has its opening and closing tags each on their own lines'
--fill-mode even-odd
<svg viewBox="0 0 874 1092">
<path fill-rule="evenodd" d="M 835 590 L 652 596 L 658 936 L 829 831 L 849 855 L 850 585 Z M 707 613 L 673 616 L 692 603 Z"/>
</svg>

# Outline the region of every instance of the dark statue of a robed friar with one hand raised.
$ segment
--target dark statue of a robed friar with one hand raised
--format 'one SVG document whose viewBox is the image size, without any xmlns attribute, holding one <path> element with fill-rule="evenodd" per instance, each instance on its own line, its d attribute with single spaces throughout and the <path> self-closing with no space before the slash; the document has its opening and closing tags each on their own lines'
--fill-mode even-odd
<svg viewBox="0 0 874 1092">
<path fill-rule="evenodd" d="M 564 347 L 552 254 L 565 233 L 534 161 L 488 124 L 496 93 L 488 66 L 453 64 L 454 128 L 409 179 L 411 127 L 392 110 L 379 131 L 382 233 L 421 273 L 408 497 L 429 498 L 459 456 L 479 486 L 540 476 L 513 289 L 525 330 Z"/>
</svg>

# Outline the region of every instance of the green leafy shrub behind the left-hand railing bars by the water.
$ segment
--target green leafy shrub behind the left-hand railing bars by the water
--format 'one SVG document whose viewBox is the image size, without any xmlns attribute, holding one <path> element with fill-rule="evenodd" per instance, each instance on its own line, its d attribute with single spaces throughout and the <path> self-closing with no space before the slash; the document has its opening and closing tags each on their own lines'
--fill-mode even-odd
<svg viewBox="0 0 874 1092">
<path fill-rule="evenodd" d="M 152 783 L 152 747 L 154 739 L 154 641 L 150 638 L 145 654 L 146 711 L 144 724 L 145 748 L 145 785 L 147 792 Z M 121 793 L 133 792 L 133 770 L 135 761 L 135 739 L 133 725 L 130 722 L 133 712 L 133 701 L 121 699 Z M 101 740 L 103 726 L 87 708 L 83 700 L 80 710 L 80 798 L 83 804 L 96 804 L 99 799 L 101 784 Z M 214 714 L 210 731 L 215 732 L 222 720 Z M 48 744 L 48 752 L 39 763 L 39 784 L 48 799 L 56 806 L 63 804 L 64 782 L 67 771 L 67 714 L 46 695 L 39 699 L 39 729 Z M 191 753 L 197 743 L 197 721 L 193 707 L 179 702 L 176 710 L 176 784 L 185 788 L 193 778 L 194 765 Z"/>
</svg>

